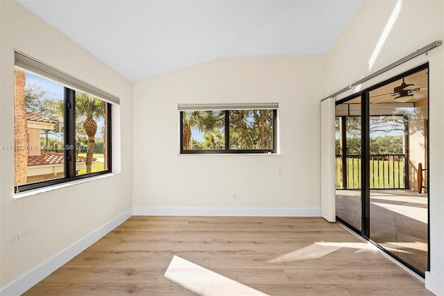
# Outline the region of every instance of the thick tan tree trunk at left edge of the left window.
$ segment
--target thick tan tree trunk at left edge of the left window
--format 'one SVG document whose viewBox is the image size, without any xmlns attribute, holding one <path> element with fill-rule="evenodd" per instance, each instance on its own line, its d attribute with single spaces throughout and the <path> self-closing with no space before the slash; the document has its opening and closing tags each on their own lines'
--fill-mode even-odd
<svg viewBox="0 0 444 296">
<path fill-rule="evenodd" d="M 28 175 L 28 121 L 24 87 L 26 76 L 24 71 L 14 70 L 15 76 L 15 108 L 14 108 L 14 184 L 26 184 Z"/>
</svg>

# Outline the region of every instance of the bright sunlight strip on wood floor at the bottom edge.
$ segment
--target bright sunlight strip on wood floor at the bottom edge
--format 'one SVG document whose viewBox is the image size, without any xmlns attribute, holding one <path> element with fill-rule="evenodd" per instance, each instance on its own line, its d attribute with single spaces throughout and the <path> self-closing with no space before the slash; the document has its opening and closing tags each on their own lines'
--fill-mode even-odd
<svg viewBox="0 0 444 296">
<path fill-rule="evenodd" d="M 267 295 L 179 256 L 173 256 L 164 277 L 198 295 L 201 291 L 196 284 L 210 285 L 210 289 L 205 287 L 205 295 Z"/>
</svg>

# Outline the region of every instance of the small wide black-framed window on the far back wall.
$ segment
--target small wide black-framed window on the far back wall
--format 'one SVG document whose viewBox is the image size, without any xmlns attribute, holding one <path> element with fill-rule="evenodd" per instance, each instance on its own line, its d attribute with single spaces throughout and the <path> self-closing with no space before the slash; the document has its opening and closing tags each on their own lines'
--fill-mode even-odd
<svg viewBox="0 0 444 296">
<path fill-rule="evenodd" d="M 180 153 L 276 153 L 277 107 L 179 105 Z"/>
</svg>

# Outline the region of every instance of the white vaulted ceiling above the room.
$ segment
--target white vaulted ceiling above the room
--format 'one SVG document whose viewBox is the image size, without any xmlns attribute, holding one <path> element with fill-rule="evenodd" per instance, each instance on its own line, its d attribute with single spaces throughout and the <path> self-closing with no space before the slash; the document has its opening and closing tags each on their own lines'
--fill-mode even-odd
<svg viewBox="0 0 444 296">
<path fill-rule="evenodd" d="M 19 0 L 131 81 L 220 58 L 327 53 L 362 1 Z"/>
</svg>

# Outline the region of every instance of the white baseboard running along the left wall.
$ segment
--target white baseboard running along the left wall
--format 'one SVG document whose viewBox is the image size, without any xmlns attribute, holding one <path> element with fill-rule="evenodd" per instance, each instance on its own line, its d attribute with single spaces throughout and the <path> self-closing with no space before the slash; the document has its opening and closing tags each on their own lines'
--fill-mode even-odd
<svg viewBox="0 0 444 296">
<path fill-rule="evenodd" d="M 28 270 L 17 279 L 10 281 L 10 283 L 1 287 L 0 295 L 1 296 L 17 296 L 22 295 L 26 290 L 32 288 L 39 281 L 42 281 L 45 277 L 51 274 L 54 270 L 60 268 L 63 264 L 67 263 L 69 260 L 73 259 L 75 256 L 83 252 L 87 247 L 99 241 L 100 238 L 108 234 L 108 232 L 112 231 L 112 229 L 121 225 L 121 223 L 125 222 L 128 218 L 133 216 L 133 209 L 130 209 L 123 214 L 117 216 L 109 223 L 106 223 L 99 229 L 96 229 L 91 234 L 88 234 L 84 238 L 80 239 L 73 245 L 67 247 L 65 250 L 62 250 L 55 256 L 46 260 L 44 263 L 36 266 L 35 268 Z"/>
</svg>

